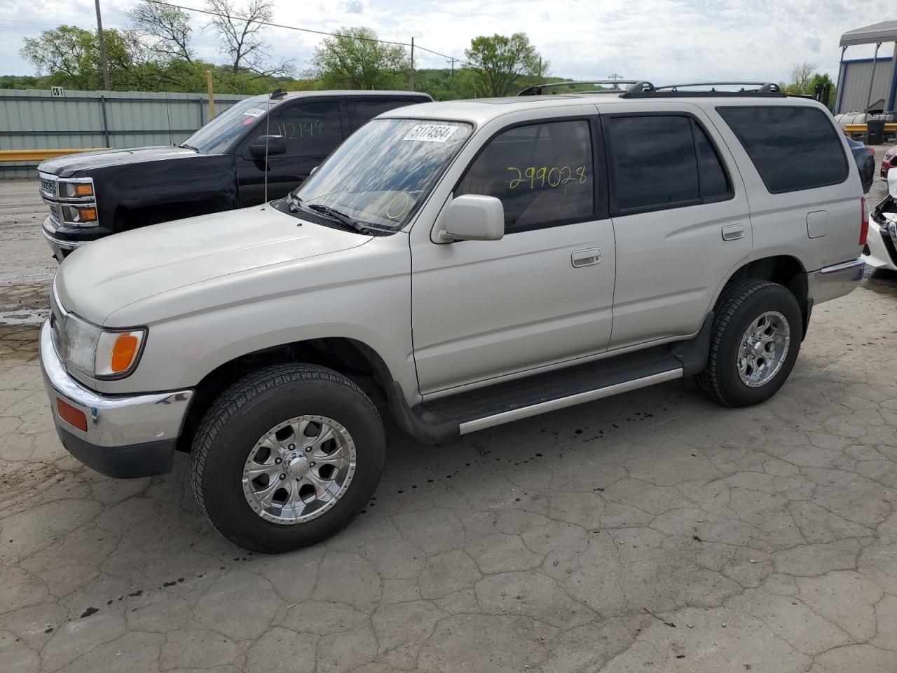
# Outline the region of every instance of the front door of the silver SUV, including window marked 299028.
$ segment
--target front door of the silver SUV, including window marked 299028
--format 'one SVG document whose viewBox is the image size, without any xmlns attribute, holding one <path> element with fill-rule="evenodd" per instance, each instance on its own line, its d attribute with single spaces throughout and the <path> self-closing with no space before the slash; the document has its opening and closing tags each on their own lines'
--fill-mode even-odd
<svg viewBox="0 0 897 673">
<path fill-rule="evenodd" d="M 496 128 L 453 194 L 500 198 L 504 238 L 415 238 L 412 322 L 422 394 L 607 347 L 614 232 L 602 212 L 595 122 L 592 115 Z"/>
</svg>

